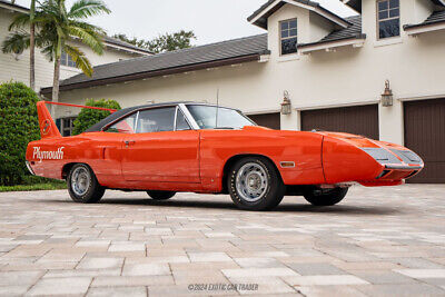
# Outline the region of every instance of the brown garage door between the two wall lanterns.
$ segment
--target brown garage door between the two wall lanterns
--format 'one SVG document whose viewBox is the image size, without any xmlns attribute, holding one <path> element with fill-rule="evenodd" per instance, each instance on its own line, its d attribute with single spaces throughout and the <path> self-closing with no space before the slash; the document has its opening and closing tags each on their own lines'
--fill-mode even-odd
<svg viewBox="0 0 445 297">
<path fill-rule="evenodd" d="M 301 130 L 349 132 L 378 139 L 378 106 L 357 106 L 301 111 Z"/>
</svg>

